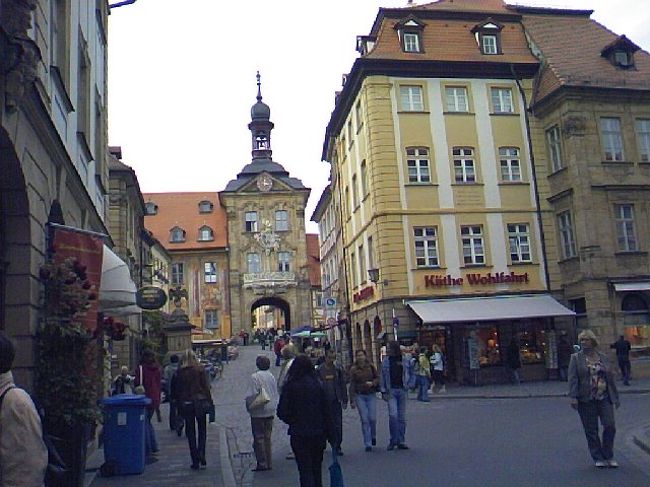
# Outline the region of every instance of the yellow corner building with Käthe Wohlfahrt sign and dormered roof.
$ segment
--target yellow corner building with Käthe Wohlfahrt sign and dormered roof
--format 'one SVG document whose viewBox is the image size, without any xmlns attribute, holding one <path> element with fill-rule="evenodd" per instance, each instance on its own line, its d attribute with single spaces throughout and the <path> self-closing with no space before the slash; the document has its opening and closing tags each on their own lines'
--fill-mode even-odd
<svg viewBox="0 0 650 487">
<path fill-rule="evenodd" d="M 380 9 L 327 129 L 352 348 L 436 343 L 454 380 L 497 382 L 514 341 L 545 378 L 573 313 L 549 292 L 528 143 L 538 61 L 520 16 L 431 5 Z"/>
</svg>

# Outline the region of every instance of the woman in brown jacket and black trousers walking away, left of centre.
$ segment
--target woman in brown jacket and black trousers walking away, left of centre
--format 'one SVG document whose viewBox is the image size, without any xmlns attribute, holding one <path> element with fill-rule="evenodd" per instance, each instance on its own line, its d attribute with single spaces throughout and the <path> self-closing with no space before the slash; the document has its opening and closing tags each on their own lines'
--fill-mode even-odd
<svg viewBox="0 0 650 487">
<path fill-rule="evenodd" d="M 185 436 L 190 447 L 192 470 L 205 468 L 206 416 L 214 409 L 205 370 L 192 350 L 186 350 L 174 376 L 174 395 L 185 420 Z"/>
</svg>

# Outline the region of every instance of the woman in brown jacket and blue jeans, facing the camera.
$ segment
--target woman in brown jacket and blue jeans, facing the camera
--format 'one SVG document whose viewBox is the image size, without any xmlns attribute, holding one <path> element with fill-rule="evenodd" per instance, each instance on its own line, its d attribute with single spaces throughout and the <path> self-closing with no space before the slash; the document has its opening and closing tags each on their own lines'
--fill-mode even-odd
<svg viewBox="0 0 650 487">
<path fill-rule="evenodd" d="M 350 367 L 350 407 L 357 408 L 366 451 L 377 445 L 377 391 L 379 374 L 365 350 L 357 350 Z"/>
</svg>

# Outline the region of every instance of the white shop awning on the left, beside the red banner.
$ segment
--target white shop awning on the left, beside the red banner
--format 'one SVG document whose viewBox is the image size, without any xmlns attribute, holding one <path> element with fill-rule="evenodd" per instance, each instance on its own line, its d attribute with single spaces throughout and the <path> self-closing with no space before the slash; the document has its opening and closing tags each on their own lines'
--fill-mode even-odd
<svg viewBox="0 0 650 487">
<path fill-rule="evenodd" d="M 99 284 L 99 311 L 135 305 L 136 287 L 129 266 L 104 245 L 102 280 Z"/>
</svg>

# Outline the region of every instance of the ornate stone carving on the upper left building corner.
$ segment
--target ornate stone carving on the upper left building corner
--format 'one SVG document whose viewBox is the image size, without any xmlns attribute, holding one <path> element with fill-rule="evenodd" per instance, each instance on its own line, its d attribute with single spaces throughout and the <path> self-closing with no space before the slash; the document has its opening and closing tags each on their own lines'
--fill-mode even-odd
<svg viewBox="0 0 650 487">
<path fill-rule="evenodd" d="M 40 51 L 27 32 L 37 0 L 0 0 L 0 74 L 6 77 L 5 108 L 15 111 L 36 79 Z"/>
</svg>

